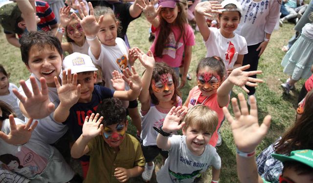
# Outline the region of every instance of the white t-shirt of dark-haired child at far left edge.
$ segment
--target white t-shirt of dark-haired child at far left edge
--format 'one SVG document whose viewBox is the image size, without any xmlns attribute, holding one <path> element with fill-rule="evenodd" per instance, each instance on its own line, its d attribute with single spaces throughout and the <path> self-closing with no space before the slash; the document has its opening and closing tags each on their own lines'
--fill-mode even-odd
<svg viewBox="0 0 313 183">
<path fill-rule="evenodd" d="M 0 95 L 0 101 L 3 101 L 5 103 L 9 104 L 11 106 L 11 108 L 14 110 L 14 112 L 16 113 L 16 116 L 19 119 L 24 120 L 24 116 L 23 116 L 23 114 L 22 114 L 22 112 L 20 110 L 20 107 L 16 103 L 18 98 L 12 92 L 13 88 L 19 90 L 19 88 L 15 84 L 10 83 L 10 85 L 9 85 L 9 92 L 10 93 L 7 94 L 7 95 Z"/>
</svg>

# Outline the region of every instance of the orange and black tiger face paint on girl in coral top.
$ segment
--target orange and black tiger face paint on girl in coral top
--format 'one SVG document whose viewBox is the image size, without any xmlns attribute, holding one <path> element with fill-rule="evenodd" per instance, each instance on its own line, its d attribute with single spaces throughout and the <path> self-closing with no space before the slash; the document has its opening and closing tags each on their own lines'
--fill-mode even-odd
<svg viewBox="0 0 313 183">
<path fill-rule="evenodd" d="M 203 87 L 204 89 L 217 89 L 221 84 L 221 77 L 219 75 L 212 75 L 209 72 L 199 73 L 197 76 L 199 88 Z"/>
</svg>

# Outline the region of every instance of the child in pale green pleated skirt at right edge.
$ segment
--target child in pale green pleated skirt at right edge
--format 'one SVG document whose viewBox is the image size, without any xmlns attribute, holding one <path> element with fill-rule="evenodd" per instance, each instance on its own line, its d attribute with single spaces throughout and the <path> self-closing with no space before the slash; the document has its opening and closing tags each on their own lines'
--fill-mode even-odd
<svg viewBox="0 0 313 183">
<path fill-rule="evenodd" d="M 284 73 L 290 75 L 290 78 L 281 84 L 284 93 L 289 95 L 290 90 L 294 88 L 294 84 L 298 80 L 301 78 L 308 79 L 312 75 L 313 23 L 307 23 L 302 28 L 300 38 L 294 42 L 286 53 L 281 65 L 284 67 Z"/>
</svg>

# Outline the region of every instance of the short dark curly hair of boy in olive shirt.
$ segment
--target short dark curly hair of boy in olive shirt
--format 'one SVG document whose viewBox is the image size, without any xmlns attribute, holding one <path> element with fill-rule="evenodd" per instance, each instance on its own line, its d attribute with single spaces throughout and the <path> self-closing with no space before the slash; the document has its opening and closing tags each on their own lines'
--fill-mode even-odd
<svg viewBox="0 0 313 183">
<path fill-rule="evenodd" d="M 103 116 L 101 124 L 104 126 L 126 122 L 126 108 L 116 98 L 103 100 L 98 106 L 97 113 Z"/>
</svg>

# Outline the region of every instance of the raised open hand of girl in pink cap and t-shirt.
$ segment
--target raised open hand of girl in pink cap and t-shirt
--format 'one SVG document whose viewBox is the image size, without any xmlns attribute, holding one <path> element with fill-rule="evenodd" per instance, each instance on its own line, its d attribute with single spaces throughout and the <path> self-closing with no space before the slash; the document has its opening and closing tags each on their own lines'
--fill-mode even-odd
<svg viewBox="0 0 313 183">
<path fill-rule="evenodd" d="M 155 9 L 155 1 L 156 0 L 142 0 L 142 4 L 144 4 L 143 6 L 141 6 L 139 3 L 137 3 L 136 5 L 141 9 L 141 11 L 144 13 L 146 19 L 148 21 L 153 21 L 155 20 L 157 14 L 161 11 L 162 6 L 157 7 L 157 9 Z"/>
</svg>

